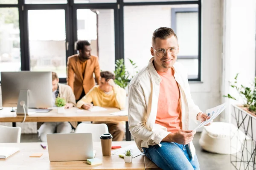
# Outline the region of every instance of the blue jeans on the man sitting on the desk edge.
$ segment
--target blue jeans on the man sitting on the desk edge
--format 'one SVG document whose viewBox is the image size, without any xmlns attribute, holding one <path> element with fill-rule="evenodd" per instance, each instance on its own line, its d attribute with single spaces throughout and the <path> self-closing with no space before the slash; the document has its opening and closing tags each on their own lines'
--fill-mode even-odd
<svg viewBox="0 0 256 170">
<path fill-rule="evenodd" d="M 158 144 L 143 147 L 145 155 L 163 170 L 200 170 L 197 156 L 192 161 L 188 145 L 174 142 L 161 142 Z"/>
</svg>

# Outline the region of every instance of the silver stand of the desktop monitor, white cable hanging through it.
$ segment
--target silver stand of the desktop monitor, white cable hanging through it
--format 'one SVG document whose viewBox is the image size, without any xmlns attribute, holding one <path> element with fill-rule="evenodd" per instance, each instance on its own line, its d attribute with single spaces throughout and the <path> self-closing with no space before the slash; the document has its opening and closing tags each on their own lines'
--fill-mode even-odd
<svg viewBox="0 0 256 170">
<path fill-rule="evenodd" d="M 18 104 L 17 104 L 17 115 L 25 115 L 23 105 L 25 105 L 25 113 L 28 115 L 29 108 L 29 90 L 20 90 Z"/>
</svg>

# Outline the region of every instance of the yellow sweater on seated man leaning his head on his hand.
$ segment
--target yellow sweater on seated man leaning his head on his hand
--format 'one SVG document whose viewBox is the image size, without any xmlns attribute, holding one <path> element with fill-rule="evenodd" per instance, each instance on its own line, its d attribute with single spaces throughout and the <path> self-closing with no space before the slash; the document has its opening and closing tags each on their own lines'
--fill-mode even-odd
<svg viewBox="0 0 256 170">
<path fill-rule="evenodd" d="M 93 102 L 94 106 L 125 109 L 126 92 L 118 85 L 113 87 L 110 94 L 105 94 L 100 90 L 99 85 L 95 85 L 81 100 L 76 104 L 78 108 L 82 105 Z"/>
</svg>

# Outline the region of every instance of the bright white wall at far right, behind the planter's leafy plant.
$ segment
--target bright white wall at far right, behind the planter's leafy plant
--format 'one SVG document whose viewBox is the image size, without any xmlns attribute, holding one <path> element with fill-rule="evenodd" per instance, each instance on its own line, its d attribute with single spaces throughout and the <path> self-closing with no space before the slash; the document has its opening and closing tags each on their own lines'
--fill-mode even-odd
<svg viewBox="0 0 256 170">
<path fill-rule="evenodd" d="M 239 73 L 238 83 L 250 85 L 255 77 L 255 37 L 256 37 L 256 1 L 255 0 L 224 0 L 224 37 L 223 37 L 223 78 L 222 95 L 228 93 L 238 96 L 229 87 L 229 80 L 233 80 Z M 241 104 L 231 99 L 223 99 L 229 105 Z M 230 107 L 222 120 L 230 122 Z"/>
</svg>

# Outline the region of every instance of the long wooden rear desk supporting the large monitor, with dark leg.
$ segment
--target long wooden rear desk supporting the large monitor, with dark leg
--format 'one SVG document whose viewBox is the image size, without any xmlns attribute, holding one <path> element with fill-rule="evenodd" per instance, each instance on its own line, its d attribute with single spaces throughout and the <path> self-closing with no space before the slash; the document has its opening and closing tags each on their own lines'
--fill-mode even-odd
<svg viewBox="0 0 256 170">
<path fill-rule="evenodd" d="M 126 122 L 126 141 L 131 141 L 131 133 L 128 128 L 128 116 L 114 116 L 110 113 L 120 111 L 117 108 L 107 108 L 107 111 L 91 112 L 78 108 L 65 109 L 65 113 L 57 113 L 57 109 L 53 109 L 48 113 L 34 113 L 26 116 L 25 122 Z M 11 112 L 9 108 L 0 110 L 0 122 L 22 122 L 24 116 L 17 116 L 16 112 Z M 13 124 L 15 126 L 15 124 Z"/>
</svg>

